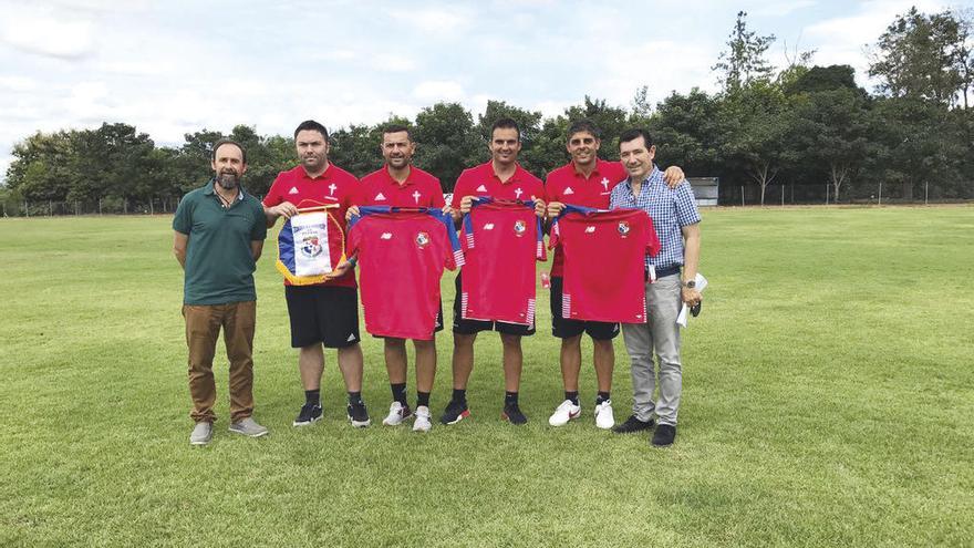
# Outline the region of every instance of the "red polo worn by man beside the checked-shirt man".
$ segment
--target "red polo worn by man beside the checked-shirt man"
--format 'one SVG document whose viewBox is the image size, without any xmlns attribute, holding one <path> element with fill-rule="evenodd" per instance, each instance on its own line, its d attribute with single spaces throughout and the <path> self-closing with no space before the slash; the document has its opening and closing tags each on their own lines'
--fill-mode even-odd
<svg viewBox="0 0 974 548">
<path fill-rule="evenodd" d="M 569 162 L 548 174 L 548 178 L 545 179 L 545 193 L 550 201 L 609 209 L 609 195 L 612 194 L 612 188 L 628 176 L 621 162 L 595 159 L 595 169 L 588 177 L 576 169 L 573 162 Z M 551 276 L 561 277 L 563 270 L 564 252 L 561 246 L 558 246 L 551 263 Z"/>
</svg>

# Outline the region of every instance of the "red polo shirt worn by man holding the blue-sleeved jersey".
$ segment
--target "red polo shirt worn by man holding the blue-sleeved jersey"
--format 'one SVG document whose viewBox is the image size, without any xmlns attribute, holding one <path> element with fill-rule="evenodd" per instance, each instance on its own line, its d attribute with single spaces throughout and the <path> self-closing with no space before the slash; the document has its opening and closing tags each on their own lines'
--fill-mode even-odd
<svg viewBox="0 0 974 548">
<path fill-rule="evenodd" d="M 416 166 L 410 166 L 410 175 L 402 184 L 392 178 L 387 165 L 382 166 L 362 177 L 360 192 L 355 201 L 359 206 L 443 208 L 446 205 L 439 179 Z"/>
</svg>

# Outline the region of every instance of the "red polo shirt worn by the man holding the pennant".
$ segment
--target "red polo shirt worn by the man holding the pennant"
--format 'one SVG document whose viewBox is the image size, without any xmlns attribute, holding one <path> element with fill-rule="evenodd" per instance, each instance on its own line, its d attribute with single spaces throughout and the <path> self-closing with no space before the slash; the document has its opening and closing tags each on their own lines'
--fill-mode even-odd
<svg viewBox="0 0 974 548">
<path fill-rule="evenodd" d="M 329 163 L 328 168 L 318 177 L 311 178 L 304 166 L 281 172 L 263 197 L 263 205 L 273 207 L 283 201 L 290 201 L 298 208 L 314 207 L 321 205 L 338 205 L 339 208 L 330 209 L 334 215 L 342 232 L 345 232 L 345 210 L 354 204 L 360 192 L 359 179 L 341 167 Z M 344 237 L 344 235 L 343 235 Z M 284 285 L 288 280 L 284 280 Z M 355 272 L 349 271 L 341 278 L 325 281 L 322 286 L 355 287 Z"/>
</svg>

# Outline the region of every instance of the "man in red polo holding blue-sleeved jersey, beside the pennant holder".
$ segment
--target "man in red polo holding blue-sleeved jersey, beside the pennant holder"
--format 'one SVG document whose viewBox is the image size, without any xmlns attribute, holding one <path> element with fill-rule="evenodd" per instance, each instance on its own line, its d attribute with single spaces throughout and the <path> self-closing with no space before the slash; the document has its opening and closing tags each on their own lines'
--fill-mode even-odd
<svg viewBox="0 0 974 548">
<path fill-rule="evenodd" d="M 416 144 L 410 128 L 403 125 L 391 125 L 382 132 L 382 156 L 385 165 L 362 178 L 359 206 L 393 206 L 393 207 L 435 207 L 444 209 L 443 188 L 439 179 L 412 165 Z M 448 208 L 447 208 L 448 209 Z M 359 208 L 349 208 L 348 217 L 358 215 Z M 443 330 L 443 310 L 436 317 L 434 338 L 428 341 L 414 339 L 416 350 L 416 418 L 413 430 L 428 432 L 433 427 L 429 413 L 429 393 L 436 375 L 436 331 Z M 385 370 L 392 389 L 393 402 L 388 415 L 382 424 L 395 426 L 408 418 L 413 412 L 406 403 L 406 341 L 386 337 Z"/>
</svg>

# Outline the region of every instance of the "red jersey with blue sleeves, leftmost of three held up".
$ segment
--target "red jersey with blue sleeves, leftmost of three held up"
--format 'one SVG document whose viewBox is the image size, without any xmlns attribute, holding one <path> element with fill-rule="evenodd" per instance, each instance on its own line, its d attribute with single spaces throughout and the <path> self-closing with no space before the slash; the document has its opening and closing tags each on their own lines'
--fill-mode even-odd
<svg viewBox="0 0 974 548">
<path fill-rule="evenodd" d="M 362 207 L 348 254 L 359 254 L 365 331 L 379 337 L 433 339 L 444 268 L 463 266 L 453 219 L 438 209 L 388 213 Z"/>
</svg>

